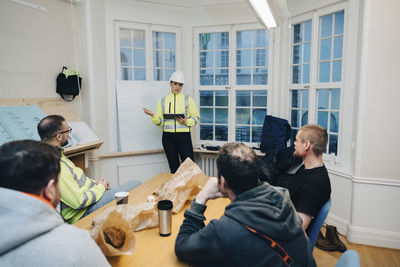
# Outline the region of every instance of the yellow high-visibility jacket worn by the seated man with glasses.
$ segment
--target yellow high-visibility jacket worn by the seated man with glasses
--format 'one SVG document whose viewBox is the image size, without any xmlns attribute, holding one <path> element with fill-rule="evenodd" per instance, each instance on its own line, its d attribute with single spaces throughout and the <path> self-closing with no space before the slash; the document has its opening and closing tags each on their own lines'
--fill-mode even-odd
<svg viewBox="0 0 400 267">
<path fill-rule="evenodd" d="M 106 188 L 86 177 L 83 170 L 76 167 L 64 152 L 60 165 L 61 216 L 68 223 L 74 223 L 82 217 L 88 206 L 99 201 Z"/>
</svg>

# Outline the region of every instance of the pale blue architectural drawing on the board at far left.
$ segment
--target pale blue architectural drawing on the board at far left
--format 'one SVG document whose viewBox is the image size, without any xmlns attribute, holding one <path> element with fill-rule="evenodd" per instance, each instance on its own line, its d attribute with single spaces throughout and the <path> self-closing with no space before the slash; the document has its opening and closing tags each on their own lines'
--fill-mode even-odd
<svg viewBox="0 0 400 267">
<path fill-rule="evenodd" d="M 38 105 L 1 106 L 0 145 L 15 140 L 40 140 L 37 125 L 45 116 Z"/>
</svg>

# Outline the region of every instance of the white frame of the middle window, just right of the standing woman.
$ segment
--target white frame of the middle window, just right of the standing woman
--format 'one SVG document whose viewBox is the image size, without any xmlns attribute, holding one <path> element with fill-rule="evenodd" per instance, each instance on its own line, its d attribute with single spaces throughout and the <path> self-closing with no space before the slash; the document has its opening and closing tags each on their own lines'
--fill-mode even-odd
<svg viewBox="0 0 400 267">
<path fill-rule="evenodd" d="M 267 85 L 236 85 L 236 32 L 246 30 L 265 30 L 258 23 L 240 24 L 240 25 L 227 25 L 227 26 L 210 26 L 210 27 L 196 27 L 193 29 L 193 53 L 194 53 L 194 88 L 196 96 L 196 104 L 200 109 L 200 91 L 201 90 L 229 90 L 229 104 L 228 104 L 228 141 L 234 142 L 236 137 L 236 90 L 267 90 L 267 115 L 272 112 L 272 84 L 275 72 L 273 66 L 274 55 L 274 39 L 275 31 L 268 30 L 268 81 Z M 229 84 L 228 85 L 200 85 L 200 55 L 199 55 L 199 34 L 201 33 L 218 33 L 229 32 Z M 214 59 L 215 60 L 215 59 Z M 195 128 L 196 146 L 201 145 L 222 145 L 225 141 L 214 140 L 200 140 L 200 127 Z M 246 143 L 249 146 L 258 146 L 259 143 Z"/>
</svg>

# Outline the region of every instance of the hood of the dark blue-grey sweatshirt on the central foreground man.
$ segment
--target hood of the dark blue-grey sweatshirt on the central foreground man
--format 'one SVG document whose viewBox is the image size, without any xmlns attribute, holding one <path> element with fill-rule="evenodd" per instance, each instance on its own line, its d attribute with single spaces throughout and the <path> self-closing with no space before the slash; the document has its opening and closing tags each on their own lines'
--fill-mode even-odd
<svg viewBox="0 0 400 267">
<path fill-rule="evenodd" d="M 288 241 L 304 234 L 289 191 L 268 183 L 236 196 L 225 215 L 274 240 Z"/>
</svg>

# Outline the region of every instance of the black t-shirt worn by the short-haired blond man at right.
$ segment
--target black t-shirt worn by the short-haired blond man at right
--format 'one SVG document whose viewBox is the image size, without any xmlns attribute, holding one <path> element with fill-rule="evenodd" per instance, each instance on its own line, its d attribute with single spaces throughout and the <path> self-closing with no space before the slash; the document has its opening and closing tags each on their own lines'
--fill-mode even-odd
<svg viewBox="0 0 400 267">
<path fill-rule="evenodd" d="M 280 175 L 275 186 L 289 190 L 290 198 L 298 212 L 315 217 L 331 195 L 331 183 L 325 166 L 305 169 L 295 174 Z"/>
</svg>

